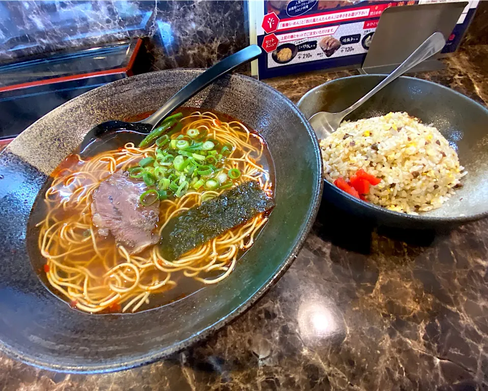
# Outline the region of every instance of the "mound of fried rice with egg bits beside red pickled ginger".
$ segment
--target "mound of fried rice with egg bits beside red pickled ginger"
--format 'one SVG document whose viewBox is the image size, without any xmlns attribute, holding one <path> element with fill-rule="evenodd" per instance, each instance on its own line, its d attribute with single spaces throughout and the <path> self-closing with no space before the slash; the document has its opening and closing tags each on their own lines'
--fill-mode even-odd
<svg viewBox="0 0 488 391">
<path fill-rule="evenodd" d="M 320 147 L 327 181 L 347 180 L 362 168 L 381 178 L 365 198 L 396 212 L 440 207 L 467 174 L 444 136 L 406 112 L 345 121 Z"/>
</svg>

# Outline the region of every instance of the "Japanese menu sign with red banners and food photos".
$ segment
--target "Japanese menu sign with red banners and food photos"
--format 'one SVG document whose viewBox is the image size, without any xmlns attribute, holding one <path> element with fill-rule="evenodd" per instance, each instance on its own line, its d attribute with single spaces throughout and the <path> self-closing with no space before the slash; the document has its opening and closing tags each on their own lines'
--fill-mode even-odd
<svg viewBox="0 0 488 391">
<path fill-rule="evenodd" d="M 359 67 L 385 9 L 445 1 L 452 0 L 250 1 L 251 43 L 263 48 L 252 66 L 253 76 L 265 79 L 317 69 Z M 477 1 L 470 1 L 463 10 L 443 53 L 459 46 L 477 5 Z"/>
</svg>

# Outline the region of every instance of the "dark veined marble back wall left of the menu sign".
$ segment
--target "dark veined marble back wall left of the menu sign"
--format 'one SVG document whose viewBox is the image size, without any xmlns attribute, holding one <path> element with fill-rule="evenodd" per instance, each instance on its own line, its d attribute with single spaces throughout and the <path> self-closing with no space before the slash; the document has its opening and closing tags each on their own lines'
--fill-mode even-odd
<svg viewBox="0 0 488 391">
<path fill-rule="evenodd" d="M 243 1 L 4 1 L 0 61 L 147 37 L 154 69 L 207 67 L 247 45 Z"/>
</svg>

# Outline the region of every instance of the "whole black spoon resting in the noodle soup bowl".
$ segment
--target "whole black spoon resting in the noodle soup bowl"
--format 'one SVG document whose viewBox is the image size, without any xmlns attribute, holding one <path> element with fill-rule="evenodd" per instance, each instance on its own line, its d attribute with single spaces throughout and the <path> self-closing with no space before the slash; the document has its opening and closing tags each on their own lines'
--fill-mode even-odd
<svg viewBox="0 0 488 391">
<path fill-rule="evenodd" d="M 261 54 L 261 48 L 250 45 L 234 53 L 216 65 L 208 68 L 194 80 L 181 88 L 154 114 L 139 122 L 107 121 L 92 128 L 83 138 L 79 151 L 83 158 L 94 156 L 102 151 L 115 149 L 127 142 L 139 142 L 144 136 L 155 129 L 163 119 L 194 95 L 198 94 L 208 84 L 220 76 L 246 64 Z"/>
</svg>

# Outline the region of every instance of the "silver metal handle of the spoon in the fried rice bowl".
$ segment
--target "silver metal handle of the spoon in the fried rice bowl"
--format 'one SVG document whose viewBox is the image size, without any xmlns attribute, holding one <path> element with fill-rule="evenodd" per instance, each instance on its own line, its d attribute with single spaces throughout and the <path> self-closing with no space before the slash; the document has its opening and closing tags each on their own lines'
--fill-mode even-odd
<svg viewBox="0 0 488 391">
<path fill-rule="evenodd" d="M 446 44 L 446 40 L 444 39 L 442 33 L 437 32 L 432 34 L 412 54 L 410 54 L 408 58 L 402 64 L 399 65 L 398 68 L 396 68 L 386 78 L 384 78 L 381 81 L 381 83 L 379 83 L 368 94 L 364 95 L 356 103 L 352 104 L 347 109 L 341 111 L 343 118 L 351 111 L 355 110 L 360 105 L 362 105 L 365 101 L 370 99 L 373 95 L 375 95 L 378 91 L 380 91 L 380 89 L 383 88 L 386 84 L 392 82 L 394 79 L 401 76 L 409 69 L 415 67 L 417 64 L 424 61 L 424 59 L 429 58 L 431 55 L 434 55 L 437 52 L 441 51 L 445 44 Z"/>
</svg>

